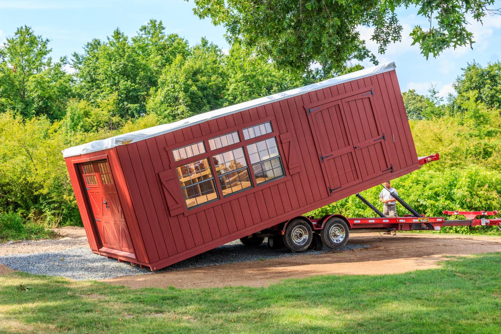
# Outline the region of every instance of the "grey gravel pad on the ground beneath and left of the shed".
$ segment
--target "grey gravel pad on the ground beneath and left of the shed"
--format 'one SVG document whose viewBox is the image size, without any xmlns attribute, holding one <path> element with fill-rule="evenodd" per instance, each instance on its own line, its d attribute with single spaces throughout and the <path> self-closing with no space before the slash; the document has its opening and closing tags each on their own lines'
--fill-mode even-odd
<svg viewBox="0 0 501 334">
<path fill-rule="evenodd" d="M 324 250 L 308 250 L 293 253 L 287 248 L 270 249 L 266 242 L 257 247 L 247 247 L 239 240 L 195 255 L 184 261 L 174 263 L 159 271 L 173 271 L 207 265 L 219 265 L 231 262 L 246 262 L 301 254 L 318 255 L 341 250 L 365 248 L 365 244 L 346 244 L 338 250 L 324 247 Z M 149 269 L 131 266 L 129 262 L 118 262 L 106 256 L 94 254 L 88 247 L 79 247 L 54 252 L 16 254 L 0 256 L 0 263 L 8 267 L 39 275 L 64 276 L 77 280 L 105 279 L 125 275 L 151 273 Z"/>
</svg>

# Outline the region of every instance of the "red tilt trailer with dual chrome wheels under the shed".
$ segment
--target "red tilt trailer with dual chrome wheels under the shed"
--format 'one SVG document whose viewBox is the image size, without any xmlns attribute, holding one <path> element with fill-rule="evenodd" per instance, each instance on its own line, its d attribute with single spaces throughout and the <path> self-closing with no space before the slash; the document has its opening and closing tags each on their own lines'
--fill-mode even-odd
<svg viewBox="0 0 501 334">
<path fill-rule="evenodd" d="M 423 165 L 439 160 L 438 153 L 419 158 Z M 383 186 L 384 187 L 384 186 Z M 332 249 L 344 246 L 348 242 L 350 230 L 374 231 L 381 230 L 440 230 L 443 226 L 498 226 L 501 218 L 477 218 L 477 216 L 495 216 L 499 211 L 448 211 L 444 215 L 463 215 L 466 219 L 446 220 L 445 217 L 427 217 L 416 212 L 398 195 L 392 193 L 395 199 L 409 210 L 411 214 L 403 217 L 386 217 L 374 205 L 360 194 L 356 196 L 369 206 L 379 217 L 348 218 L 341 214 L 328 214 L 322 218 L 298 216 L 285 223 L 241 238 L 243 244 L 258 245 L 268 237 L 270 248 L 281 248 L 284 245 L 292 251 L 305 249 L 323 249 L 327 245 Z M 311 234 L 311 237 L 310 237 Z"/>
</svg>

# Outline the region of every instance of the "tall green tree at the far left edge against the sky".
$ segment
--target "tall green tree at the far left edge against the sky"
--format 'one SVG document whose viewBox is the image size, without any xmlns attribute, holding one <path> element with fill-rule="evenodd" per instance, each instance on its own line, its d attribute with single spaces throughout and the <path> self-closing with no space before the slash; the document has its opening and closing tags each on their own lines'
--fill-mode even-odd
<svg viewBox="0 0 501 334">
<path fill-rule="evenodd" d="M 48 39 L 20 27 L 0 47 L 0 106 L 31 118 L 47 115 L 51 120 L 64 115 L 71 96 L 71 76 L 64 70 L 66 58 L 52 63 Z"/>
</svg>

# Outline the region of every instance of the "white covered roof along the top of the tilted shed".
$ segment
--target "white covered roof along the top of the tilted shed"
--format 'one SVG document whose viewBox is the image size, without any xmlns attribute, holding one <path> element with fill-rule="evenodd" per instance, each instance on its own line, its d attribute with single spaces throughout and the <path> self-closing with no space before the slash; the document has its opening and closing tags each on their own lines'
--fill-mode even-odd
<svg viewBox="0 0 501 334">
<path fill-rule="evenodd" d="M 151 137 L 155 137 L 158 135 L 162 135 L 165 133 L 169 133 L 175 130 L 179 130 L 194 124 L 202 123 L 205 121 L 209 121 L 218 117 L 230 115 L 233 113 L 238 113 L 243 110 L 247 110 L 250 108 L 255 108 L 259 107 L 268 103 L 272 103 L 275 101 L 280 101 L 283 99 L 287 99 L 293 96 L 301 95 L 304 93 L 308 92 L 313 92 L 319 89 L 323 89 L 326 87 L 342 84 L 344 82 L 352 81 L 352 80 L 357 80 L 369 76 L 373 76 L 379 73 L 383 72 L 388 72 L 391 70 L 395 69 L 395 63 L 386 63 L 374 67 L 370 67 L 367 69 L 363 69 L 357 72 L 352 72 L 348 73 L 336 78 L 328 79 L 316 84 L 300 87 L 300 88 L 295 88 L 291 89 L 286 92 L 282 93 L 277 93 L 273 94 L 270 96 L 266 96 L 263 98 L 247 101 L 247 102 L 242 102 L 235 104 L 233 106 L 228 106 L 224 107 L 221 109 L 216 109 L 212 110 L 203 114 L 198 114 L 195 116 L 191 116 L 189 118 L 186 118 L 184 120 L 180 120 L 174 123 L 169 123 L 169 124 L 162 124 L 162 125 L 157 125 L 151 128 L 147 129 L 142 129 L 134 132 L 129 132 L 123 135 L 118 135 L 115 137 L 107 138 L 107 139 L 102 139 L 102 140 L 96 140 L 87 144 L 82 144 L 79 146 L 75 147 L 70 147 L 67 148 L 66 150 L 63 150 L 63 156 L 65 158 L 67 157 L 72 157 L 72 156 L 78 156 L 81 154 L 87 154 L 91 152 L 97 152 L 101 150 L 106 150 L 110 149 L 113 147 L 116 147 L 118 145 L 125 145 L 129 143 L 134 143 L 140 140 L 148 139 Z"/>
</svg>

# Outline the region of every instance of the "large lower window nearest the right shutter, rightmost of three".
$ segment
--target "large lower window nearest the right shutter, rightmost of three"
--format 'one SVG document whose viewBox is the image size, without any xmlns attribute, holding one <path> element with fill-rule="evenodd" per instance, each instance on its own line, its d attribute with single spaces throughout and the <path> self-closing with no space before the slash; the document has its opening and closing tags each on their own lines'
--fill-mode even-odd
<svg viewBox="0 0 501 334">
<path fill-rule="evenodd" d="M 275 137 L 247 145 L 247 151 L 258 184 L 285 175 Z"/>
</svg>

